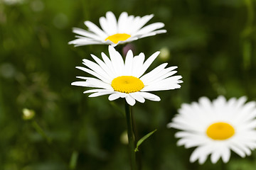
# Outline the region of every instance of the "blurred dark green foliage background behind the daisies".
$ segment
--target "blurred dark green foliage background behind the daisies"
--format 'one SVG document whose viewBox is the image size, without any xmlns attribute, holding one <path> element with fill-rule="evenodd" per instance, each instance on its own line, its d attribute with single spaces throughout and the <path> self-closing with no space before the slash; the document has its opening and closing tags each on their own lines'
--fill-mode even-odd
<svg viewBox="0 0 256 170">
<path fill-rule="evenodd" d="M 83 21 L 99 25 L 113 11 L 165 23 L 166 34 L 132 42 L 135 54 L 161 50 L 156 65 L 178 66 L 181 89 L 159 91 L 160 102 L 133 107 L 137 137 L 158 129 L 139 148 L 142 170 L 220 169 L 208 160 L 189 163 L 193 149 L 176 147 L 166 124 L 181 103 L 247 96 L 256 100 L 255 0 L 0 0 L 0 169 L 129 169 L 121 99 L 87 98 L 85 88 L 71 86 L 75 69 L 106 45 L 73 47 L 73 27 Z M 35 112 L 24 120 L 24 108 Z M 120 111 L 121 110 L 121 111 Z M 46 135 L 44 137 L 44 135 Z M 242 159 L 232 154 L 225 169 L 255 169 L 256 152 Z"/>
</svg>

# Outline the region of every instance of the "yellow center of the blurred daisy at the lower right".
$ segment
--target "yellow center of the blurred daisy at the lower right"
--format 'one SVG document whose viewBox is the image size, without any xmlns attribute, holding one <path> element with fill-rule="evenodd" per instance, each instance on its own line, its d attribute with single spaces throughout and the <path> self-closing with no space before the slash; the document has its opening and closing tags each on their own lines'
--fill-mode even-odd
<svg viewBox="0 0 256 170">
<path fill-rule="evenodd" d="M 228 123 L 213 123 L 206 130 L 206 134 L 213 140 L 227 140 L 235 134 L 235 129 Z"/>
</svg>

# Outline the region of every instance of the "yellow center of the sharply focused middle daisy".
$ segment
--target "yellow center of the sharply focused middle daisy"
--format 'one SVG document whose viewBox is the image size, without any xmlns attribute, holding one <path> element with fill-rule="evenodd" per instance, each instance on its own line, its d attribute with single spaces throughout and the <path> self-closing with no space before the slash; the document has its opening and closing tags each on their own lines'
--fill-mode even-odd
<svg viewBox="0 0 256 170">
<path fill-rule="evenodd" d="M 119 91 L 126 94 L 134 93 L 144 88 L 143 82 L 137 77 L 132 76 L 114 78 L 112 80 L 111 86 L 114 91 Z"/>
</svg>

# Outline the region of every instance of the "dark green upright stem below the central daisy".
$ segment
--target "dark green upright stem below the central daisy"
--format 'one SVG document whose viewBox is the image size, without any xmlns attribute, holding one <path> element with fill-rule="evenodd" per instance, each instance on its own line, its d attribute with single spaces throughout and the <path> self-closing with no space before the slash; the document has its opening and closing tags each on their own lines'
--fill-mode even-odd
<svg viewBox="0 0 256 170">
<path fill-rule="evenodd" d="M 137 164 L 136 164 L 136 152 L 135 149 L 135 138 L 134 138 L 134 132 L 132 128 L 132 112 L 131 112 L 131 106 L 124 101 L 125 103 L 125 115 L 127 118 L 127 135 L 128 135 L 128 142 L 129 142 L 129 156 L 130 156 L 130 163 L 131 163 L 131 169 L 137 170 Z"/>
</svg>

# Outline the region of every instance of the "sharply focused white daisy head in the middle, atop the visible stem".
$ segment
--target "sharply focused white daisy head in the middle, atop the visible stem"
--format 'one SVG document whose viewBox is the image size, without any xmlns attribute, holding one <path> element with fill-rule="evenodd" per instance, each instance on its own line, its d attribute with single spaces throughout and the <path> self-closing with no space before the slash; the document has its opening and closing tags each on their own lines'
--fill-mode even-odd
<svg viewBox="0 0 256 170">
<path fill-rule="evenodd" d="M 173 70 L 177 67 L 165 68 L 167 63 L 161 64 L 151 72 L 144 74 L 159 55 L 159 52 L 155 52 L 145 62 L 144 53 L 134 56 L 132 50 L 129 50 L 125 61 L 111 45 L 109 46 L 109 53 L 110 58 L 102 52 L 103 61 L 95 55 L 91 55 L 95 62 L 82 60 L 82 64 L 85 64 L 86 67 L 76 68 L 92 74 L 95 78 L 78 77 L 85 79 L 85 81 L 76 81 L 72 85 L 95 88 L 84 92 L 84 94 L 93 93 L 89 97 L 110 94 L 110 101 L 125 98 L 131 106 L 134 106 L 135 101 L 144 103 L 145 99 L 160 101 L 159 96 L 147 91 L 164 91 L 181 87 L 179 85 L 183 82 L 179 80 L 181 76 L 171 77 L 176 73 Z"/>
</svg>

